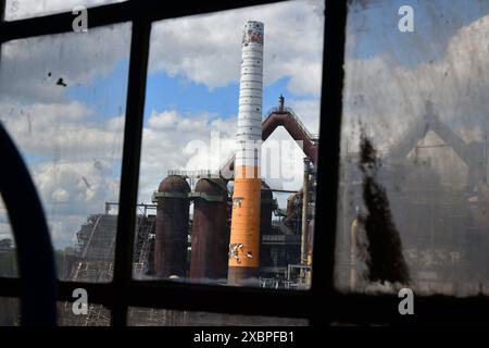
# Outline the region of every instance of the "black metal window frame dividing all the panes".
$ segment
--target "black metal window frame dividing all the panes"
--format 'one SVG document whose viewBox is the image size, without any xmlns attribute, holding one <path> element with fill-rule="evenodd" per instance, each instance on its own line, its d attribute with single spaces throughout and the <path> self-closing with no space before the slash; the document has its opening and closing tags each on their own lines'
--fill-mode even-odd
<svg viewBox="0 0 489 348">
<path fill-rule="evenodd" d="M 339 144 L 342 111 L 347 1 L 325 0 L 323 83 L 321 100 L 319 167 L 314 272 L 310 290 L 288 291 L 247 287 L 222 287 L 172 281 L 136 281 L 133 271 L 139 161 L 151 25 L 155 21 L 212 13 L 283 0 L 181 0 L 172 3 L 147 0 L 89 9 L 89 27 L 130 22 L 131 41 L 126 99 L 126 121 L 117 217 L 114 275 L 111 283 L 58 282 L 59 300 L 73 300 L 73 289 L 86 288 L 90 302 L 111 310 L 111 325 L 127 325 L 129 306 L 173 310 L 306 318 L 312 325 L 349 323 L 430 323 L 487 321 L 489 298 L 417 296 L 413 320 L 398 313 L 397 296 L 342 294 L 334 287 Z M 0 0 L 3 16 L 5 0 Z M 72 30 L 73 14 L 59 14 L 0 22 L 0 45 L 9 40 Z M 20 279 L 0 277 L 0 296 L 18 297 Z M 240 306 L 230 306 L 239 302 Z"/>
</svg>

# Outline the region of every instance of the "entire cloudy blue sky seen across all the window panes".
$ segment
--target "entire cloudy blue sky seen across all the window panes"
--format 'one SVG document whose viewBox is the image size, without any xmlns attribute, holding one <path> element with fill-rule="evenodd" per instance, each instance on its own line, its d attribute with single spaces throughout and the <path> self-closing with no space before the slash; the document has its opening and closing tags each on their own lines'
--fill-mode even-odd
<svg viewBox="0 0 489 348">
<path fill-rule="evenodd" d="M 7 17 L 102 2 L 108 1 L 10 0 Z M 343 145 L 348 139 L 354 149 L 361 121 L 387 147 L 423 116 L 427 99 L 464 139 L 480 139 L 488 120 L 489 3 L 352 3 Z M 414 9 L 414 33 L 398 30 L 401 4 Z M 153 25 L 138 201 L 150 202 L 168 170 L 215 170 L 231 152 L 247 20 L 265 23 L 263 110 L 284 94 L 317 133 L 323 10 L 322 1 L 298 0 Z M 28 162 L 57 247 L 73 244 L 87 215 L 118 199 L 129 37 L 125 24 L 2 46 L 0 120 Z M 279 129 L 272 140 L 287 139 Z M 297 189 L 302 153 L 285 142 L 274 153 L 280 159 L 278 178 L 266 179 Z M 7 231 L 0 211 L 0 234 Z"/>
</svg>

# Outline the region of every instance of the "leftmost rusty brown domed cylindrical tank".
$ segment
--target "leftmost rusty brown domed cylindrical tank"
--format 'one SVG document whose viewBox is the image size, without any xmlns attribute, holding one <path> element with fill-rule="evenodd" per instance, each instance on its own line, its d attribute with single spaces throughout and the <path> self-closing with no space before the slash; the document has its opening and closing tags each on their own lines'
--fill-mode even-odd
<svg viewBox="0 0 489 348">
<path fill-rule="evenodd" d="M 170 175 L 158 189 L 154 271 L 158 276 L 186 276 L 190 186 Z"/>
</svg>

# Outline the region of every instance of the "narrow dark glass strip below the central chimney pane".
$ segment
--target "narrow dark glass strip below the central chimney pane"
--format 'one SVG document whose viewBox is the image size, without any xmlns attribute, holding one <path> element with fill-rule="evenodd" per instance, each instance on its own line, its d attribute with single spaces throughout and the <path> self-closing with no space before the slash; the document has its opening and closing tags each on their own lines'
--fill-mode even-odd
<svg viewBox="0 0 489 348">
<path fill-rule="evenodd" d="M 308 326 L 309 320 L 129 307 L 129 326 Z"/>
</svg>

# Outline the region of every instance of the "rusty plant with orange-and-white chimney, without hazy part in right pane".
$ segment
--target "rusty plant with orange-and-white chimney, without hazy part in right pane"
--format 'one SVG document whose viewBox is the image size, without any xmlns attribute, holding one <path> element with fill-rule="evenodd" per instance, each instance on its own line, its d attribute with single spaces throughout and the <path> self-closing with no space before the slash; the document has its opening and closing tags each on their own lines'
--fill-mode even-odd
<svg viewBox="0 0 489 348">
<path fill-rule="evenodd" d="M 152 196 L 153 204 L 137 206 L 135 278 L 309 288 L 318 137 L 285 107 L 283 96 L 262 121 L 263 45 L 263 23 L 247 22 L 236 153 L 216 172 L 168 171 Z M 273 189 L 261 177 L 262 142 L 279 126 L 303 145 L 303 185 L 297 191 Z M 287 207 L 278 207 L 275 192 L 290 195 Z M 77 233 L 76 252 L 63 265 L 70 270 L 68 279 L 111 281 L 117 222 L 111 210 L 116 204 L 106 202 L 105 212 L 89 216 Z M 60 310 L 64 325 L 104 325 L 110 321 L 109 312 L 100 306 L 91 306 L 88 315 L 79 316 L 71 313 L 71 303 L 60 304 Z M 187 314 L 130 309 L 129 321 L 199 322 Z M 203 315 L 200 324 L 212 321 L 209 315 Z M 229 318 L 225 322 L 230 323 Z M 287 320 L 280 323 L 287 324 Z"/>
</svg>

